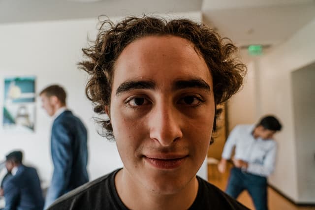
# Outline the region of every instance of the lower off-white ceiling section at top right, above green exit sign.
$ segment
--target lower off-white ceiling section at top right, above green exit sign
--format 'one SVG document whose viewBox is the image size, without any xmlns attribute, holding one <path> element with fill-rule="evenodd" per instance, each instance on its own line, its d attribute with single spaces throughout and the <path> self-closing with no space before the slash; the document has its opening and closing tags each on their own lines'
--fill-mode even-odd
<svg viewBox="0 0 315 210">
<path fill-rule="evenodd" d="M 268 46 L 264 54 L 315 19 L 315 0 L 204 0 L 203 22 L 242 47 Z M 315 34 L 314 34 L 315 35 Z"/>
</svg>

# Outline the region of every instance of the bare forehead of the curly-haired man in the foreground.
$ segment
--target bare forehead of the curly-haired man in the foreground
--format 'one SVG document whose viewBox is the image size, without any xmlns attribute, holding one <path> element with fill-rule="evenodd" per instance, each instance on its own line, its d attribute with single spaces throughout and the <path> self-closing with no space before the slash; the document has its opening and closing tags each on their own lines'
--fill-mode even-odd
<svg viewBox="0 0 315 210">
<path fill-rule="evenodd" d="M 196 76 L 212 85 L 205 60 L 189 40 L 177 36 L 147 36 L 127 45 L 119 56 L 114 65 L 113 90 L 126 80 L 154 80 L 165 84 Z"/>
</svg>

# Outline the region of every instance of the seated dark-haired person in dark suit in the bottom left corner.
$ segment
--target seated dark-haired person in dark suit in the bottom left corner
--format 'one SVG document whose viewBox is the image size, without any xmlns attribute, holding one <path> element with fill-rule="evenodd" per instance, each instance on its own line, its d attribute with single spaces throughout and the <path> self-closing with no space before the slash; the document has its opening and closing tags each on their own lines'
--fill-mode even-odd
<svg viewBox="0 0 315 210">
<path fill-rule="evenodd" d="M 8 176 L 3 182 L 4 210 L 41 210 L 44 198 L 36 169 L 22 164 L 21 151 L 6 155 Z"/>
</svg>

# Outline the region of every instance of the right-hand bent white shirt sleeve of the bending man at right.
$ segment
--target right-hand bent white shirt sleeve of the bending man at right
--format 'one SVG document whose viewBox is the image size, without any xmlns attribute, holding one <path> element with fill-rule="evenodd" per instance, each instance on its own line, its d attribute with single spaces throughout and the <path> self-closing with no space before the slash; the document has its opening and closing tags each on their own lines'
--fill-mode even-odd
<svg viewBox="0 0 315 210">
<path fill-rule="evenodd" d="M 274 144 L 267 152 L 263 164 L 249 163 L 246 171 L 263 177 L 271 175 L 275 169 L 277 148 L 277 144 Z"/>
</svg>

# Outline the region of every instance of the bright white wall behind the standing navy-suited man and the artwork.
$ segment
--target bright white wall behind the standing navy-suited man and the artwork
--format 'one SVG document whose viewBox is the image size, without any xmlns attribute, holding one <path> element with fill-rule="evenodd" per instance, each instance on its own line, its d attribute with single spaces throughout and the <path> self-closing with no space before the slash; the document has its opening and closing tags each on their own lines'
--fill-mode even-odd
<svg viewBox="0 0 315 210">
<path fill-rule="evenodd" d="M 201 20 L 200 12 L 167 16 Z M 82 60 L 81 48 L 87 46 L 88 35 L 90 39 L 95 39 L 96 25 L 96 19 L 0 25 L 0 83 L 4 84 L 5 76 L 34 75 L 37 93 L 53 83 L 66 89 L 68 108 L 83 120 L 89 131 L 88 171 L 91 179 L 122 167 L 116 144 L 96 132 L 92 104 L 84 93 L 87 75 L 76 66 Z M 1 120 L 3 88 L 4 85 L 0 85 Z M 0 160 L 10 150 L 21 149 L 25 163 L 34 165 L 41 179 L 49 182 L 53 170 L 50 157 L 51 124 L 52 120 L 41 109 L 41 102 L 37 98 L 34 133 L 9 134 L 0 126 Z M 199 173 L 206 179 L 206 165 Z"/>
</svg>

